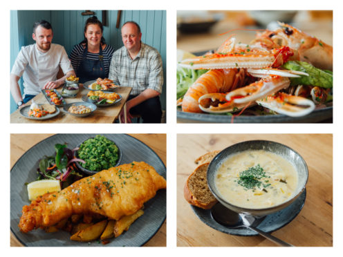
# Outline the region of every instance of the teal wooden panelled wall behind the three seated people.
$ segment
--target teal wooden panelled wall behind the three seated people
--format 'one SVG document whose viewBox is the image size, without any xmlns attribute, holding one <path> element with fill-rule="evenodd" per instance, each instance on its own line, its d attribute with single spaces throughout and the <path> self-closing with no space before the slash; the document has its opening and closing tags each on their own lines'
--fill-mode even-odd
<svg viewBox="0 0 343 257">
<path fill-rule="evenodd" d="M 92 10 L 95 16 L 102 21 L 102 11 Z M 12 13 L 13 12 L 13 13 Z M 79 44 L 84 39 L 84 24 L 90 16 L 82 16 L 84 10 L 19 10 L 11 12 L 11 26 L 15 23 L 17 15 L 17 30 L 11 28 L 11 42 L 16 41 L 17 46 L 11 43 L 11 68 L 12 64 L 19 53 L 21 46 L 33 44 L 32 27 L 33 23 L 39 19 L 50 21 L 53 26 L 53 43 L 64 46 L 68 55 L 71 53 L 73 46 Z M 120 18 L 120 27 L 115 28 L 117 23 L 118 10 L 107 11 L 107 25 L 104 26 L 104 38 L 106 44 L 113 46 L 115 50 L 121 48 L 122 37 L 121 27 L 126 21 L 136 21 L 142 30 L 142 41 L 149 46 L 156 48 L 163 60 L 163 70 L 165 83 L 163 94 L 161 95 L 161 104 L 166 108 L 166 11 L 165 10 L 122 10 Z M 17 39 L 15 39 L 17 37 Z M 14 105 L 15 106 L 15 105 Z M 15 111 L 15 108 L 11 112 Z"/>
</svg>

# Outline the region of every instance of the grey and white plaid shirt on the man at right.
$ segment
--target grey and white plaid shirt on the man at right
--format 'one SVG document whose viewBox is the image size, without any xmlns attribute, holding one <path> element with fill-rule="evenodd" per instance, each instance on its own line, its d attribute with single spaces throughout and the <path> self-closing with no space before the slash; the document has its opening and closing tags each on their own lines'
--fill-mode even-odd
<svg viewBox="0 0 343 257">
<path fill-rule="evenodd" d="M 160 53 L 141 42 L 138 55 L 131 59 L 127 48 L 122 46 L 113 53 L 109 79 L 120 86 L 130 86 L 131 95 L 139 95 L 147 88 L 162 93 L 163 67 Z"/>
</svg>

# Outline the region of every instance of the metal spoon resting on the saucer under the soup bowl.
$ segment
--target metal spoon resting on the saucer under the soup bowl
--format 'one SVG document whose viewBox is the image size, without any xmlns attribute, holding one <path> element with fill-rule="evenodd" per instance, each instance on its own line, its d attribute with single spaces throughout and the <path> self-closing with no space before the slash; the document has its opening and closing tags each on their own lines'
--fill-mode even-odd
<svg viewBox="0 0 343 257">
<path fill-rule="evenodd" d="M 261 236 L 267 238 L 268 240 L 275 242 L 277 245 L 281 245 L 284 247 L 293 247 L 294 245 L 288 244 L 288 242 L 284 242 L 283 240 L 276 238 L 266 232 L 257 229 L 257 226 L 264 220 L 266 217 L 257 218 L 250 214 L 245 213 L 236 213 L 231 211 L 230 209 L 226 208 L 220 202 L 214 205 L 211 209 L 211 216 L 218 222 L 219 224 L 230 227 L 232 229 L 236 229 L 239 227 L 245 227 L 251 229 L 259 233 Z"/>
</svg>

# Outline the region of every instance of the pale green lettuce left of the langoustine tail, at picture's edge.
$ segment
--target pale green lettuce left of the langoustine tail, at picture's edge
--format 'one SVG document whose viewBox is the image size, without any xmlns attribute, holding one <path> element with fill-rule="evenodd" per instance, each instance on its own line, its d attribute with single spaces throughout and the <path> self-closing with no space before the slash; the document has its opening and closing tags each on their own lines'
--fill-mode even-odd
<svg viewBox="0 0 343 257">
<path fill-rule="evenodd" d="M 192 84 L 207 70 L 192 70 L 190 68 L 178 67 L 176 70 L 176 99 L 183 97 L 187 92 L 189 86 Z"/>
</svg>

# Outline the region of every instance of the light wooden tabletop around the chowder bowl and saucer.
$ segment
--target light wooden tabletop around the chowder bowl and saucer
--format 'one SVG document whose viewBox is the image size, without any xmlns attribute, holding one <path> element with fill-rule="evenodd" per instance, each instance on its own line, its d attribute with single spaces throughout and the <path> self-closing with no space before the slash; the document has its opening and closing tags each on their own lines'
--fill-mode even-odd
<svg viewBox="0 0 343 257">
<path fill-rule="evenodd" d="M 290 146 L 308 165 L 306 202 L 299 215 L 273 236 L 302 247 L 333 245 L 333 135 L 332 134 L 196 134 L 177 139 L 177 245 L 192 247 L 274 247 L 262 236 L 231 236 L 207 227 L 183 198 L 183 186 L 196 168 L 194 160 L 214 150 L 246 140 L 270 140 Z"/>
</svg>

